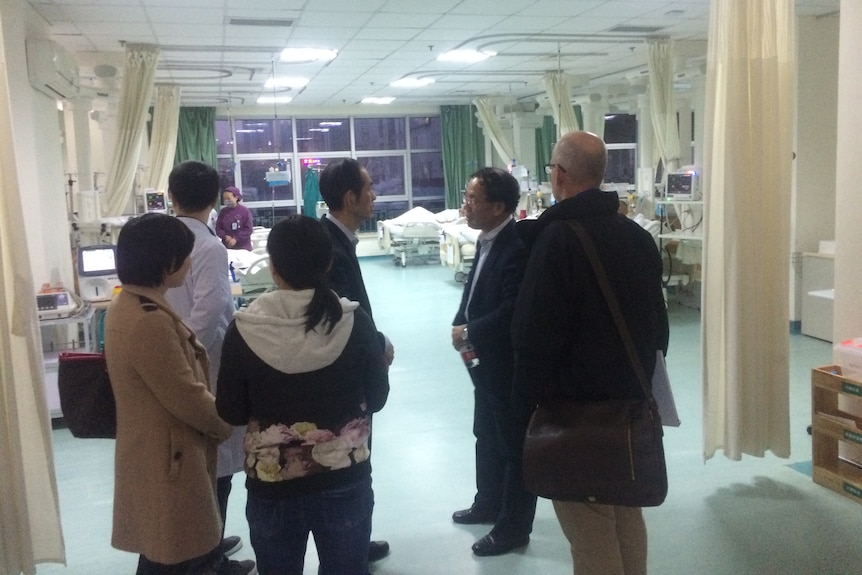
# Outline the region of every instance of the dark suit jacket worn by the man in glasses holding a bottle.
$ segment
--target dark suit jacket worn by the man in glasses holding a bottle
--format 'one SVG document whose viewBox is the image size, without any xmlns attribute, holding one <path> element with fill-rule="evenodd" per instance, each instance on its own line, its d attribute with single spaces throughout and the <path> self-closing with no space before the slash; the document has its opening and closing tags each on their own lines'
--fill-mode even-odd
<svg viewBox="0 0 862 575">
<path fill-rule="evenodd" d="M 478 256 L 475 262 L 478 262 Z M 494 239 L 476 280 L 470 299 L 470 321 L 467 321 L 465 312 L 476 272 L 475 264 L 467 277 L 458 313 L 452 321 L 452 325 L 467 324 L 470 342 L 476 348 L 479 365 L 470 370 L 473 382 L 506 393 L 507 397 L 514 373 L 512 312 L 526 262 L 527 250 L 518 237 L 515 222 L 510 221 Z"/>
</svg>

